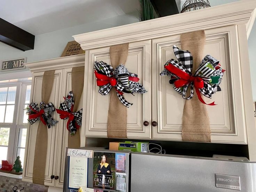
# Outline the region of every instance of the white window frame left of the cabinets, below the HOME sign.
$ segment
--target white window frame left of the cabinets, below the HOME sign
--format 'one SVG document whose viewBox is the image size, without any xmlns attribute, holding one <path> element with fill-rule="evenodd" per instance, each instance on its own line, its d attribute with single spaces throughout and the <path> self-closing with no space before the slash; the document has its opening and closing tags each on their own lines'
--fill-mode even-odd
<svg viewBox="0 0 256 192">
<path fill-rule="evenodd" d="M 17 82 L 4 82 L 0 83 L 0 88 L 2 87 L 14 87 L 16 86 L 15 104 L 14 104 L 14 114 L 13 123 L 0 123 L 0 127 L 10 128 L 9 140 L 8 140 L 8 150 L 7 150 L 7 161 L 13 164 L 17 157 L 18 149 L 25 149 L 25 147 L 19 147 L 19 133 L 22 128 L 28 128 L 28 123 L 23 123 L 23 112 L 25 103 L 25 93 L 26 86 L 31 85 L 32 80 L 17 81 Z M 7 95 L 8 96 L 8 95 Z M 31 100 L 31 95 L 30 95 Z M 1 164 L 2 162 L 0 162 Z M 24 163 L 24 162 L 23 162 Z"/>
</svg>

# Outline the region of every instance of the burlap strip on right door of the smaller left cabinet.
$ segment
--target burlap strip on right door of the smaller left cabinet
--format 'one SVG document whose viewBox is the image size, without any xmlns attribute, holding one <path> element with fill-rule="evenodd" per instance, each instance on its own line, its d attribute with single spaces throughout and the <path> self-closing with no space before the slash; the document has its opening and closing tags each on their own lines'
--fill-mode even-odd
<svg viewBox="0 0 256 192">
<path fill-rule="evenodd" d="M 78 105 L 83 92 L 83 81 L 85 78 L 85 66 L 73 67 L 71 72 L 71 87 L 74 95 L 74 107 L 73 111 L 78 110 Z M 75 135 L 71 136 L 69 134 L 68 138 L 69 148 L 79 148 L 80 147 L 80 129 L 77 130 Z"/>
</svg>

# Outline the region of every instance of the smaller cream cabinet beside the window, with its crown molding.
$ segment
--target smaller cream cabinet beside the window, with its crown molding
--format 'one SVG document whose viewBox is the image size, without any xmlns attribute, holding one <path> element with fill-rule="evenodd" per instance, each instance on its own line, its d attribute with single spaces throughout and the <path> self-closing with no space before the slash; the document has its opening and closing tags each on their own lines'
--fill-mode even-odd
<svg viewBox="0 0 256 192">
<path fill-rule="evenodd" d="M 49 102 L 52 102 L 58 109 L 59 104 L 63 102 L 63 96 L 71 91 L 71 71 L 72 67 L 84 66 L 85 57 L 82 55 L 61 57 L 45 61 L 26 63 L 33 73 L 31 100 L 41 102 L 43 73 L 47 70 L 55 70 L 53 89 L 50 94 Z M 82 108 L 82 99 L 79 107 Z M 65 151 L 67 147 L 69 132 L 66 130 L 66 120 L 61 120 L 56 111 L 53 118 L 59 122 L 48 129 L 48 145 L 45 168 L 45 185 L 62 187 L 64 182 L 64 164 Z M 35 141 L 37 137 L 37 128 L 39 121 L 29 125 L 27 131 L 23 181 L 32 182 Z"/>
</svg>

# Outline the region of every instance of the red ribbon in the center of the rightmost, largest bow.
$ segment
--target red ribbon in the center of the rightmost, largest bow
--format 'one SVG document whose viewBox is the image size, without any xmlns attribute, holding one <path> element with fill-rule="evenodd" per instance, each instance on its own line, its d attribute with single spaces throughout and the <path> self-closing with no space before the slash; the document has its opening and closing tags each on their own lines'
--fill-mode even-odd
<svg viewBox="0 0 256 192">
<path fill-rule="evenodd" d="M 205 101 L 203 101 L 203 98 L 202 98 L 202 96 L 200 94 L 200 91 L 199 91 L 199 89 L 203 88 L 203 79 L 201 77 L 198 77 L 198 76 L 195 77 L 193 75 L 190 75 L 190 74 L 182 71 L 181 69 L 178 69 L 177 67 L 175 67 L 172 64 L 166 65 L 165 69 L 167 71 L 169 71 L 170 73 L 173 73 L 177 77 L 180 78 L 180 79 L 178 79 L 174 82 L 174 85 L 175 85 L 176 88 L 183 87 L 183 86 L 193 82 L 194 86 L 195 86 L 195 91 L 197 93 L 197 96 L 198 96 L 199 100 L 203 104 L 206 104 L 206 105 L 216 105 L 214 102 L 210 103 L 210 104 L 207 104 L 207 103 L 205 103 Z"/>
</svg>

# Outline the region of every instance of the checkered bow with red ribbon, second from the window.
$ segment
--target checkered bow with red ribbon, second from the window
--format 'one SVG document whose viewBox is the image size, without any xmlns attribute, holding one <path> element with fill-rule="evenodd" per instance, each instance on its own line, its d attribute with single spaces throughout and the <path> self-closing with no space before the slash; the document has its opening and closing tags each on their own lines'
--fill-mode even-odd
<svg viewBox="0 0 256 192">
<path fill-rule="evenodd" d="M 64 97 L 65 101 L 61 103 L 59 109 L 56 109 L 56 112 L 59 113 L 59 117 L 61 119 L 67 119 L 67 130 L 69 130 L 69 133 L 71 136 L 75 135 L 75 132 L 77 132 L 77 129 L 82 125 L 82 111 L 83 109 L 80 109 L 77 112 L 73 113 L 73 107 L 74 107 L 74 96 L 73 91 L 70 91 L 67 97 Z"/>
</svg>

